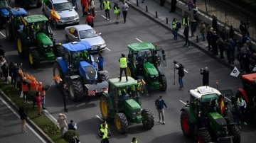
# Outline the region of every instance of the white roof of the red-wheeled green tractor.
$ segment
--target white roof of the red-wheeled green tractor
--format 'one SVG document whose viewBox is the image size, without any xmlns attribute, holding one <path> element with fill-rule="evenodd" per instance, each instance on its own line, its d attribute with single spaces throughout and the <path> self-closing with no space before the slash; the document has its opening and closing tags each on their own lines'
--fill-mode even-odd
<svg viewBox="0 0 256 143">
<path fill-rule="evenodd" d="M 189 93 L 191 93 L 192 96 L 194 96 L 195 98 L 201 98 L 202 96 L 205 95 L 210 95 L 210 94 L 217 94 L 218 96 L 221 95 L 220 91 L 218 91 L 215 88 L 212 88 L 210 86 L 199 86 L 196 89 L 191 89 L 189 90 Z M 209 97 L 210 98 L 210 97 Z"/>
</svg>

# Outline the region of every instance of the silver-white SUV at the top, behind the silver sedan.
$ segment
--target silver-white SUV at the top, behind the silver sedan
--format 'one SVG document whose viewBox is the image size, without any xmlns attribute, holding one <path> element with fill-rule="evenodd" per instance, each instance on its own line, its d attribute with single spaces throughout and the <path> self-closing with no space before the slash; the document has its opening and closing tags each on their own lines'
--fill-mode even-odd
<svg viewBox="0 0 256 143">
<path fill-rule="evenodd" d="M 53 25 L 72 25 L 79 24 L 79 15 L 75 7 L 68 0 L 48 0 L 43 3 L 43 15 L 50 18 L 51 10 L 57 11 L 60 21 L 53 20 Z"/>
</svg>

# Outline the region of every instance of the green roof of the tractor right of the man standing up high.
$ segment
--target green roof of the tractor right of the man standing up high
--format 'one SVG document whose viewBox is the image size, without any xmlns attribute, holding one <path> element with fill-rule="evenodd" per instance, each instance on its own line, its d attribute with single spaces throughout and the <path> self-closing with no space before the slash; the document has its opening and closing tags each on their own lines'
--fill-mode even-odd
<svg viewBox="0 0 256 143">
<path fill-rule="evenodd" d="M 128 49 L 131 51 L 140 51 L 140 50 L 154 50 L 155 47 L 151 42 L 135 42 L 127 45 Z"/>
</svg>

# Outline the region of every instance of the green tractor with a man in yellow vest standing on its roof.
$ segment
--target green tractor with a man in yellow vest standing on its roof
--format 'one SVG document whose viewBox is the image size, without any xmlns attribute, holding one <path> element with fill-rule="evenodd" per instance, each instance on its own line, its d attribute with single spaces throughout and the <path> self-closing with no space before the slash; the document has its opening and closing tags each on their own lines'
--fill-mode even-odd
<svg viewBox="0 0 256 143">
<path fill-rule="evenodd" d="M 144 129 L 150 130 L 154 127 L 153 111 L 141 108 L 142 99 L 136 89 L 137 81 L 129 76 L 128 79 L 127 82 L 119 82 L 118 78 L 109 80 L 108 91 L 100 98 L 102 118 L 107 121 L 114 120 L 119 133 L 127 132 L 128 125 L 132 122 L 142 122 Z M 127 94 L 124 95 L 125 93 Z"/>
</svg>

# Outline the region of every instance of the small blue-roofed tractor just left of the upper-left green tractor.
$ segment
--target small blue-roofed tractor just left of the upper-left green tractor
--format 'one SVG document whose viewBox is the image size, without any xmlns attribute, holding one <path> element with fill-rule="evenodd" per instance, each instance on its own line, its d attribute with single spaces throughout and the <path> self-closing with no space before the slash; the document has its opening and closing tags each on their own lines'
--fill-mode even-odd
<svg viewBox="0 0 256 143">
<path fill-rule="evenodd" d="M 23 29 L 23 17 L 28 16 L 24 8 L 11 8 L 10 18 L 6 22 L 5 31 L 8 40 L 16 40 L 18 30 Z"/>
</svg>

